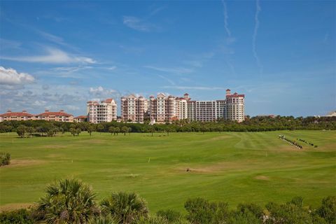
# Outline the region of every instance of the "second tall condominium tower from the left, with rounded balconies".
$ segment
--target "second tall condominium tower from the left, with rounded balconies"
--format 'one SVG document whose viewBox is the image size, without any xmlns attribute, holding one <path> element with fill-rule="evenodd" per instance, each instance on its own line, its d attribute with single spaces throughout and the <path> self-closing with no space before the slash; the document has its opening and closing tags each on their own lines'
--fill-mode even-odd
<svg viewBox="0 0 336 224">
<path fill-rule="evenodd" d="M 148 100 L 144 97 L 136 97 L 130 94 L 127 97 L 121 97 L 121 119 L 130 122 L 143 123 L 148 112 Z"/>
</svg>

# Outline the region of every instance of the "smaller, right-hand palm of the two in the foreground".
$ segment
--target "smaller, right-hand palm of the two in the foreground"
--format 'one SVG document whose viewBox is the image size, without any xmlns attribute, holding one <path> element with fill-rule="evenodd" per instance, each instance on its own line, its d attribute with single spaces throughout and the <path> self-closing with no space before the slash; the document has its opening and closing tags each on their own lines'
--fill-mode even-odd
<svg viewBox="0 0 336 224">
<path fill-rule="evenodd" d="M 102 213 L 120 219 L 120 223 L 129 224 L 141 216 L 148 215 L 147 203 L 135 193 L 112 193 L 100 203 Z"/>
</svg>

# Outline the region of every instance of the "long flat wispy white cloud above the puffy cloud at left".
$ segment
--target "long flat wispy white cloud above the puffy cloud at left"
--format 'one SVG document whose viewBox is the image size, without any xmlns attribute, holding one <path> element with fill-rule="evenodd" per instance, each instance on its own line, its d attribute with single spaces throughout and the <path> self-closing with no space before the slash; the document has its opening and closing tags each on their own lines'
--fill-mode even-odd
<svg viewBox="0 0 336 224">
<path fill-rule="evenodd" d="M 77 55 L 71 55 L 67 52 L 59 50 L 57 48 L 45 48 L 45 55 L 36 56 L 24 56 L 24 57 L 6 57 L 0 56 L 1 59 L 6 59 L 10 61 L 18 62 L 39 62 L 39 63 L 50 63 L 50 64 L 69 64 L 69 63 L 85 63 L 85 64 L 95 64 L 97 63 L 94 59 L 90 57 L 81 57 Z"/>
</svg>

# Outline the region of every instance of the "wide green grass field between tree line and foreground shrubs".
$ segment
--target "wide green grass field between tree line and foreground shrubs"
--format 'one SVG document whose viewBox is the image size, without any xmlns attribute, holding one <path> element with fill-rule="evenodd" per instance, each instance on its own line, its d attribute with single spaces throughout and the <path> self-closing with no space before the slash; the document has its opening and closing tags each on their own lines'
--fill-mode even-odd
<svg viewBox="0 0 336 224">
<path fill-rule="evenodd" d="M 278 139 L 301 138 L 298 150 Z M 48 183 L 64 178 L 89 183 L 97 200 L 134 191 L 151 211 L 176 209 L 190 197 L 239 202 L 286 202 L 293 196 L 317 205 L 336 195 L 336 132 L 87 133 L 79 137 L 20 139 L 0 134 L 0 151 L 12 164 L 0 168 L 0 209 L 38 201 Z M 190 168 L 191 172 L 186 172 Z"/>
</svg>

